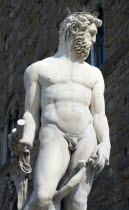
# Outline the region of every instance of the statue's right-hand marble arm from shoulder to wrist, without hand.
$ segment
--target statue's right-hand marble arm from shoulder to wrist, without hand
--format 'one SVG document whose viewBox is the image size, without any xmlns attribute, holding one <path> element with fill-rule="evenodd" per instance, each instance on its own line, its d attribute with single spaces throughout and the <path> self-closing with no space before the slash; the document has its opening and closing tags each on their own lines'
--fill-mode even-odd
<svg viewBox="0 0 129 210">
<path fill-rule="evenodd" d="M 98 142 L 110 146 L 109 126 L 105 115 L 104 80 L 101 72 L 97 73 L 98 79 L 92 91 L 91 113 Z"/>
</svg>

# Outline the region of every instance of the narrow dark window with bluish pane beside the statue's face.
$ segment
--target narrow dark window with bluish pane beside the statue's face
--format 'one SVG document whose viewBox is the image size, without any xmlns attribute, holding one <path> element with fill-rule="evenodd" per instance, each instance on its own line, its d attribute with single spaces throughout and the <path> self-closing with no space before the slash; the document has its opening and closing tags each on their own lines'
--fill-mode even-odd
<svg viewBox="0 0 129 210">
<path fill-rule="evenodd" d="M 96 66 L 96 67 L 101 66 L 106 59 L 105 42 L 104 42 L 104 16 L 103 16 L 103 8 L 102 7 L 99 7 L 98 13 L 99 13 L 98 18 L 100 20 L 102 20 L 103 24 L 101 27 L 98 28 L 96 42 L 93 45 L 90 55 L 86 60 L 87 63 L 89 63 L 93 66 Z"/>
</svg>

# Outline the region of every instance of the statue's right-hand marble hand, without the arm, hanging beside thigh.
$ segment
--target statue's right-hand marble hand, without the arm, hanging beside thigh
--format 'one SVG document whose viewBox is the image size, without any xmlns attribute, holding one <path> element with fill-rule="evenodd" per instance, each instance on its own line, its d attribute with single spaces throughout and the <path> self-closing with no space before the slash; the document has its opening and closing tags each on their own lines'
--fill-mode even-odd
<svg viewBox="0 0 129 210">
<path fill-rule="evenodd" d="M 100 143 L 88 160 L 88 164 L 95 168 L 96 174 L 99 174 L 103 168 L 109 164 L 110 146 L 106 143 Z"/>
</svg>

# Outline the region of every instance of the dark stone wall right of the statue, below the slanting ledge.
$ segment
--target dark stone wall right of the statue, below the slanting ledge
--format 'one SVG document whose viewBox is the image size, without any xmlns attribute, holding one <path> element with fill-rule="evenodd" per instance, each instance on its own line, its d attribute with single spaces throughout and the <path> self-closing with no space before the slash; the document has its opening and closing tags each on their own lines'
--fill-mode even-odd
<svg viewBox="0 0 129 210">
<path fill-rule="evenodd" d="M 111 60 L 101 68 L 108 74 L 105 99 L 112 145 L 110 165 L 95 177 L 89 210 L 129 209 L 129 49 L 118 61 L 115 58 L 117 52 L 114 65 Z"/>
</svg>

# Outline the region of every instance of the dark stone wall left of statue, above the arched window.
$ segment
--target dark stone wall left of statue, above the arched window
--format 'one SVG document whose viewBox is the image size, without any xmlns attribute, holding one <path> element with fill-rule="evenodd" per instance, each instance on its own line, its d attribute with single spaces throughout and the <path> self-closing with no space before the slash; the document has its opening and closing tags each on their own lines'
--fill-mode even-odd
<svg viewBox="0 0 129 210">
<path fill-rule="evenodd" d="M 76 11 L 80 4 L 74 0 L 0 2 L 0 166 L 3 164 L 3 135 L 10 101 L 12 98 L 18 101 L 21 117 L 24 109 L 23 73 L 31 63 L 55 53 L 59 24 L 67 7 Z"/>
</svg>

